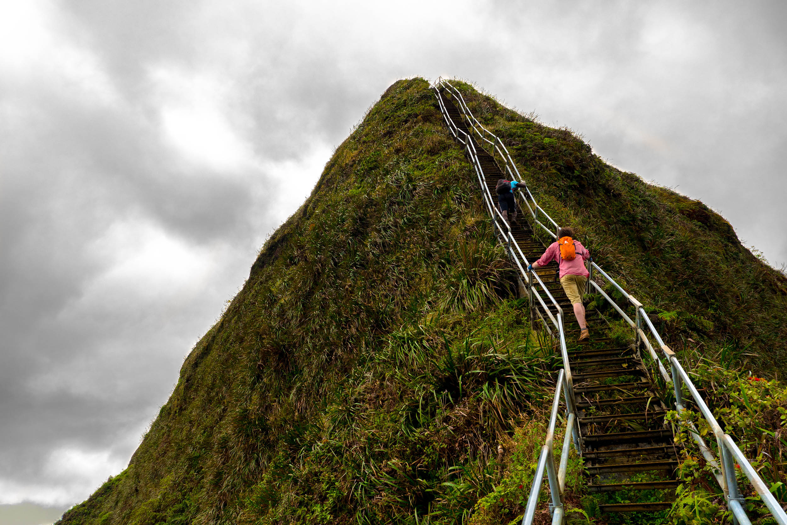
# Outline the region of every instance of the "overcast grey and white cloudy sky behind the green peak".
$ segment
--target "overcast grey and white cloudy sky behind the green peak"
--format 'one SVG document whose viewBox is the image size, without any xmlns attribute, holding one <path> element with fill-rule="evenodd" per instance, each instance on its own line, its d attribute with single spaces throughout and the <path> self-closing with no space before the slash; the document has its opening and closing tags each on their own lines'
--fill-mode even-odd
<svg viewBox="0 0 787 525">
<path fill-rule="evenodd" d="M 787 261 L 784 2 L 0 0 L 0 504 L 125 468 L 396 79 L 461 77 Z"/>
</svg>

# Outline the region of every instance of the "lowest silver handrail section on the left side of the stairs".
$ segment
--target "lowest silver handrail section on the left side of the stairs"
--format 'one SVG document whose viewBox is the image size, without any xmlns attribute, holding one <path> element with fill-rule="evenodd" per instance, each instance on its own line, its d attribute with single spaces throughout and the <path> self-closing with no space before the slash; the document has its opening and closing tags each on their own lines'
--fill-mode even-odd
<svg viewBox="0 0 787 525">
<path fill-rule="evenodd" d="M 560 389 L 563 388 L 566 401 L 566 431 L 563 434 L 563 449 L 560 453 L 560 467 L 555 468 L 555 427 L 557 425 L 557 413 L 560 408 Z M 559 525 L 563 523 L 563 516 L 565 510 L 563 508 L 563 490 L 566 488 L 566 471 L 568 468 L 568 453 L 571 449 L 571 429 L 574 427 L 576 421 L 576 414 L 570 409 L 568 397 L 568 386 L 566 383 L 566 374 L 564 370 L 560 370 L 557 375 L 557 382 L 555 384 L 555 397 L 552 399 L 552 411 L 549 415 L 549 427 L 546 431 L 546 439 L 544 445 L 541 446 L 541 454 L 538 456 L 538 464 L 536 467 L 535 475 L 533 477 L 533 485 L 530 486 L 530 496 L 527 498 L 527 508 L 525 508 L 525 516 L 522 518 L 522 525 L 530 525 L 533 523 L 533 518 L 536 512 L 536 505 L 538 505 L 538 496 L 541 494 L 541 482 L 544 479 L 544 471 L 547 473 L 549 479 L 549 492 L 551 493 L 552 502 L 549 505 L 552 511 L 552 525 Z"/>
</svg>

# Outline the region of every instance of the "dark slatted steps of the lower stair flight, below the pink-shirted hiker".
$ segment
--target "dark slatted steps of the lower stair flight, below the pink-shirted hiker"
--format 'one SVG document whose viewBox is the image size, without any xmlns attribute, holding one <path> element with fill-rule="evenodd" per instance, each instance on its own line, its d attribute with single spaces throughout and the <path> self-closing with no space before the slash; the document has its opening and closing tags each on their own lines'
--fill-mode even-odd
<svg viewBox="0 0 787 525">
<path fill-rule="evenodd" d="M 569 353 L 582 432 L 587 490 L 602 512 L 654 512 L 671 507 L 678 455 L 666 406 L 630 346 L 596 343 Z M 626 493 L 628 503 L 605 501 Z"/>
</svg>

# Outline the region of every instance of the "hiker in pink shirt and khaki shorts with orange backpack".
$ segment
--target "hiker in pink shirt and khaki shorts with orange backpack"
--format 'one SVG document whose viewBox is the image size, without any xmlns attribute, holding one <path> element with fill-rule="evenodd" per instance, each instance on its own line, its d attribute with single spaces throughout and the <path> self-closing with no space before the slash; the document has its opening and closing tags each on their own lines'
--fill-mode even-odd
<svg viewBox="0 0 787 525">
<path fill-rule="evenodd" d="M 582 296 L 585 295 L 589 276 L 587 268 L 585 268 L 585 261 L 590 258 L 590 252 L 585 246 L 582 246 L 582 242 L 575 241 L 572 238 L 574 237 L 574 230 L 570 227 L 560 228 L 557 236 L 557 242 L 552 242 L 544 252 L 544 255 L 538 261 L 530 264 L 527 269 L 541 268 L 552 261 L 558 261 L 560 264 L 560 284 L 563 286 L 563 290 L 566 291 L 571 305 L 574 306 L 574 315 L 577 317 L 579 324 L 579 340 L 586 341 L 590 338 L 590 332 L 585 322 L 585 306 L 582 305 Z M 571 256 L 571 245 L 573 245 L 575 257 L 562 257 L 560 255 L 561 245 L 563 245 L 563 253 L 568 253 L 568 257 Z"/>
</svg>

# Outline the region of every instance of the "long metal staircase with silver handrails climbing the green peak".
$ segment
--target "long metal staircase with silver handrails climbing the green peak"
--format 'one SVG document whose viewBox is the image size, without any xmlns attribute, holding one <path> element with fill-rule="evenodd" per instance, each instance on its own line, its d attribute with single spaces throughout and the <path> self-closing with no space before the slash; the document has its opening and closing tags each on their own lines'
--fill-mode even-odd
<svg viewBox="0 0 787 525">
<path fill-rule="evenodd" d="M 573 315 L 569 316 L 570 320 L 564 315 L 564 310 L 572 312 L 572 309 L 557 281 L 556 264 L 533 271 L 526 269 L 546 248 L 541 238 L 552 242 L 557 236 L 558 225 L 541 209 L 529 189 L 517 190 L 515 194 L 519 208 L 523 212 L 527 210 L 529 220 L 522 218 L 513 225 L 503 220 L 493 200 L 497 180 L 526 181 L 519 176 L 519 170 L 503 142 L 475 119 L 456 87 L 444 79 L 438 79 L 434 84 L 434 92 L 445 123 L 456 140 L 464 146 L 467 158 L 475 168 L 497 241 L 504 246 L 519 270 L 520 290 L 529 298 L 530 320 L 544 327 L 552 336 L 563 361 L 563 369 L 556 381 L 545 445 L 541 447 L 522 523 L 533 523 L 545 471 L 549 480 L 552 523 L 563 523 L 563 490 L 572 442 L 584 460 L 586 476 L 589 478 L 587 490 L 597 497 L 601 512 L 642 512 L 641 519 L 637 521 L 652 523 L 648 520 L 648 512 L 671 507 L 671 495 L 679 484 L 674 477 L 678 454 L 671 427 L 664 423 L 668 407 L 663 402 L 665 392 L 656 386 L 659 381 L 666 384 L 674 394 L 678 412 L 685 410 L 683 400 L 684 390 L 687 390 L 714 431 L 715 450 L 696 432 L 693 438 L 708 463 L 717 469 L 716 479 L 733 513 L 733 523 L 751 523 L 737 487 L 733 468 L 737 463 L 777 523 L 787 525 L 787 515 L 778 501 L 770 494 L 732 438 L 724 434 L 674 353 L 663 343 L 641 303 L 626 293 L 592 260 L 588 264 L 589 292 L 600 294 L 632 327 L 632 342 L 630 346 L 615 344 L 609 338 L 595 338 L 582 344 L 573 342 L 578 335 L 578 326 Z M 597 280 L 601 283 L 606 281 L 607 286 L 623 294 L 626 305 L 621 307 L 612 301 Z M 625 309 L 632 308 L 634 313 L 630 316 L 630 312 L 626 313 Z M 597 310 L 588 313 L 589 327 L 607 323 Z M 567 343 L 567 336 L 571 338 L 571 343 Z M 660 350 L 661 355 L 656 349 Z M 671 368 L 671 373 L 667 372 L 662 360 Z M 556 433 L 561 391 L 566 431 L 560 467 L 556 468 L 552 440 Z M 721 461 L 716 460 L 714 455 L 719 451 Z M 614 493 L 624 496 L 615 498 L 617 501 L 630 502 L 611 501 L 609 496 Z"/>
</svg>

